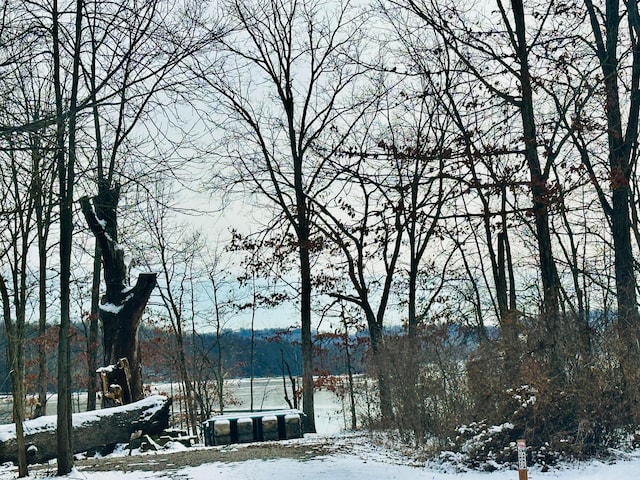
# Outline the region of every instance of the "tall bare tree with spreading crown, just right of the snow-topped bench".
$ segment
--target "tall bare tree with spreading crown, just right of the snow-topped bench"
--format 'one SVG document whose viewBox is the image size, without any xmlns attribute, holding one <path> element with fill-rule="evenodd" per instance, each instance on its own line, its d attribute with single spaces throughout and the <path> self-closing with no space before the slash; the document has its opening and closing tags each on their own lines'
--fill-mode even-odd
<svg viewBox="0 0 640 480">
<path fill-rule="evenodd" d="M 197 71 L 219 102 L 210 119 L 227 135 L 216 149 L 231 160 L 221 176 L 229 182 L 231 175 L 232 184 L 265 201 L 261 208 L 275 211 L 295 237 L 303 409 L 305 428 L 313 432 L 311 270 L 316 238 L 311 199 L 327 189 L 329 156 L 314 155 L 313 148 L 330 129 L 348 122 L 348 115 L 357 117 L 362 107 L 349 97 L 363 72 L 357 56 L 364 17 L 350 1 L 331 7 L 315 0 L 224 5 L 237 28 L 222 41 L 218 55 Z"/>
</svg>

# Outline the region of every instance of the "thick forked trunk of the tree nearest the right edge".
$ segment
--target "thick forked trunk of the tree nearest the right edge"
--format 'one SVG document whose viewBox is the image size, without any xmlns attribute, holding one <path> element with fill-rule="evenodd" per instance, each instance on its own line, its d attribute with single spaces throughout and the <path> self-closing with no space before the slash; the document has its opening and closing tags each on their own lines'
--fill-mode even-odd
<svg viewBox="0 0 640 480">
<path fill-rule="evenodd" d="M 624 2 L 626 13 L 620 12 L 619 0 L 608 0 L 604 18 L 597 12 L 591 0 L 584 4 L 589 13 L 589 20 L 594 38 L 595 51 L 603 75 L 604 94 L 606 101 L 604 109 L 607 118 L 607 140 L 609 157 L 609 184 L 611 189 L 611 204 L 600 195 L 604 212 L 611 221 L 611 235 L 613 237 L 616 300 L 618 303 L 617 327 L 620 338 L 618 359 L 623 373 L 625 390 L 632 402 L 630 413 L 637 421 L 640 417 L 640 314 L 638 312 L 635 272 L 633 269 L 634 256 L 631 244 L 630 198 L 631 175 L 636 167 L 638 148 L 638 124 L 640 122 L 640 13 L 635 1 Z M 624 18 L 626 16 L 626 18 Z M 603 25 L 601 25 L 601 21 Z M 623 130 L 623 113 L 621 108 L 621 90 L 619 86 L 618 54 L 620 44 L 620 26 L 623 21 L 628 22 L 632 42 L 632 65 L 630 93 L 625 102 L 626 131 Z M 603 36 L 604 33 L 604 36 Z M 633 39 L 635 37 L 635 42 Z"/>
</svg>

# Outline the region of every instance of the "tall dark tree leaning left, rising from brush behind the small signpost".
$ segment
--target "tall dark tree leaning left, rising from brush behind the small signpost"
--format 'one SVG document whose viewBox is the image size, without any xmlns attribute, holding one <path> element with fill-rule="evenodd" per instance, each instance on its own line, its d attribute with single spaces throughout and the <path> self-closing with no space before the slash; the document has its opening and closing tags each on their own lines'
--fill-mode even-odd
<svg viewBox="0 0 640 480">
<path fill-rule="evenodd" d="M 542 37 L 550 7 L 535 5 L 532 8 L 540 8 L 542 12 L 537 17 L 527 17 L 521 0 L 509 3 L 497 0 L 497 9 L 492 15 L 500 28 L 491 30 L 478 10 L 466 12 L 454 3 L 408 0 L 397 4 L 415 13 L 442 38 L 466 74 L 477 80 L 478 88 L 488 93 L 492 100 L 487 103 L 501 109 L 502 114 L 509 117 L 510 125 L 514 125 L 511 121 L 514 112 L 519 117 L 519 138 L 510 139 L 511 144 L 505 150 L 518 148 L 529 174 L 530 219 L 542 283 L 541 323 L 548 332 L 543 350 L 550 377 L 562 382 L 564 371 L 559 338 L 562 286 L 554 259 L 549 218 L 554 199 L 550 172 L 562 142 L 554 145 L 553 135 L 541 138 L 539 124 L 542 120 L 536 110 L 530 59 L 535 42 Z M 533 18 L 541 20 L 534 21 Z"/>
</svg>

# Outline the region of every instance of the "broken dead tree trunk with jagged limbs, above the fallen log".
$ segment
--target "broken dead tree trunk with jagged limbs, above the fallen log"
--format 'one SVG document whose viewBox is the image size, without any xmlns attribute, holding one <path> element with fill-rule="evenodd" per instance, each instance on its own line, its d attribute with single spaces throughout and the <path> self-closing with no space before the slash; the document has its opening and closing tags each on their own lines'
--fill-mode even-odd
<svg viewBox="0 0 640 480">
<path fill-rule="evenodd" d="M 124 250 L 118 244 L 116 207 L 119 188 L 103 190 L 93 199 L 80 199 L 80 206 L 91 232 L 100 246 L 106 292 L 102 297 L 99 316 L 103 326 L 105 362 L 115 364 L 121 358 L 129 361 L 131 369 L 131 397 L 125 403 L 143 397 L 138 329 L 142 313 L 156 286 L 155 273 L 138 276 L 129 286 L 129 272 Z"/>
</svg>

